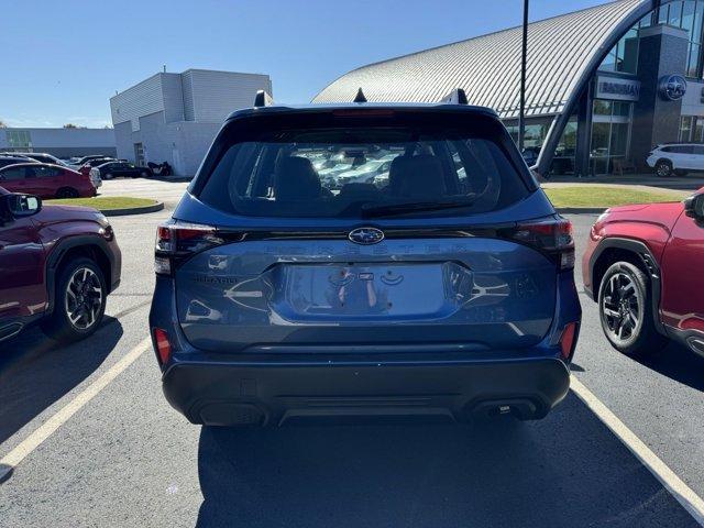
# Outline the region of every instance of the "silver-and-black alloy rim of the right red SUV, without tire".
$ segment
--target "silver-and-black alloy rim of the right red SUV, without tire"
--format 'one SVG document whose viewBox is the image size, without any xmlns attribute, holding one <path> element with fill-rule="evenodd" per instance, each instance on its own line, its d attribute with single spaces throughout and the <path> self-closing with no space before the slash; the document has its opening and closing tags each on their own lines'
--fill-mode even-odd
<svg viewBox="0 0 704 528">
<path fill-rule="evenodd" d="M 601 309 L 604 330 L 617 343 L 626 343 L 642 327 L 642 298 L 635 280 L 626 273 L 615 273 L 609 277 Z"/>
</svg>

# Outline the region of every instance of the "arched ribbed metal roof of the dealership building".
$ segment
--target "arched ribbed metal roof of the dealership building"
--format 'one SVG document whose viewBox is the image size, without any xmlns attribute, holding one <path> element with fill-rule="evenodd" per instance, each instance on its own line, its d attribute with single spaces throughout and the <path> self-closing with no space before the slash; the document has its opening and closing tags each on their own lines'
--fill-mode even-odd
<svg viewBox="0 0 704 528">
<path fill-rule="evenodd" d="M 526 116 L 562 113 L 586 72 L 652 2 L 620 0 L 534 22 L 528 26 Z M 346 102 L 362 87 L 370 101 L 437 102 L 463 88 L 471 105 L 516 118 L 519 106 L 521 29 L 392 58 L 354 69 L 314 102 Z"/>
</svg>

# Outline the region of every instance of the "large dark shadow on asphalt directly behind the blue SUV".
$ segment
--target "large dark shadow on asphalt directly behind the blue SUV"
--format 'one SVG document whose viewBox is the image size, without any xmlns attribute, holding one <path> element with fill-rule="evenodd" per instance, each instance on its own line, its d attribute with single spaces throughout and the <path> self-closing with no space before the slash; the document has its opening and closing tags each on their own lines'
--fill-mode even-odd
<svg viewBox="0 0 704 528">
<path fill-rule="evenodd" d="M 198 527 L 697 526 L 572 394 L 540 422 L 204 427 Z"/>
</svg>

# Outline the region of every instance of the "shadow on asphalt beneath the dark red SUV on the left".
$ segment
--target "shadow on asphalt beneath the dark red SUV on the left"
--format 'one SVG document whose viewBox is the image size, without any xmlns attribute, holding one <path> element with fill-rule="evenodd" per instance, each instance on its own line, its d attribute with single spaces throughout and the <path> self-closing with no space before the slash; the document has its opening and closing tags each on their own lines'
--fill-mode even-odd
<svg viewBox="0 0 704 528">
<path fill-rule="evenodd" d="M 70 345 L 59 345 L 36 328 L 3 342 L 0 443 L 92 374 L 121 336 L 120 322 L 106 316 L 96 334 Z"/>
</svg>

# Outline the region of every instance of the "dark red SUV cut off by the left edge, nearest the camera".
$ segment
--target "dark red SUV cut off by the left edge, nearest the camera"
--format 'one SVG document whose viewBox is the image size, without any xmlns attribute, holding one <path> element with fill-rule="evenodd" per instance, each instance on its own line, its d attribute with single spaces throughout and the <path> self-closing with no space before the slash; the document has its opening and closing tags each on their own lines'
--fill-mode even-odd
<svg viewBox="0 0 704 528">
<path fill-rule="evenodd" d="M 91 334 L 121 263 L 100 212 L 0 187 L 0 341 L 34 322 L 59 341 Z"/>
</svg>

